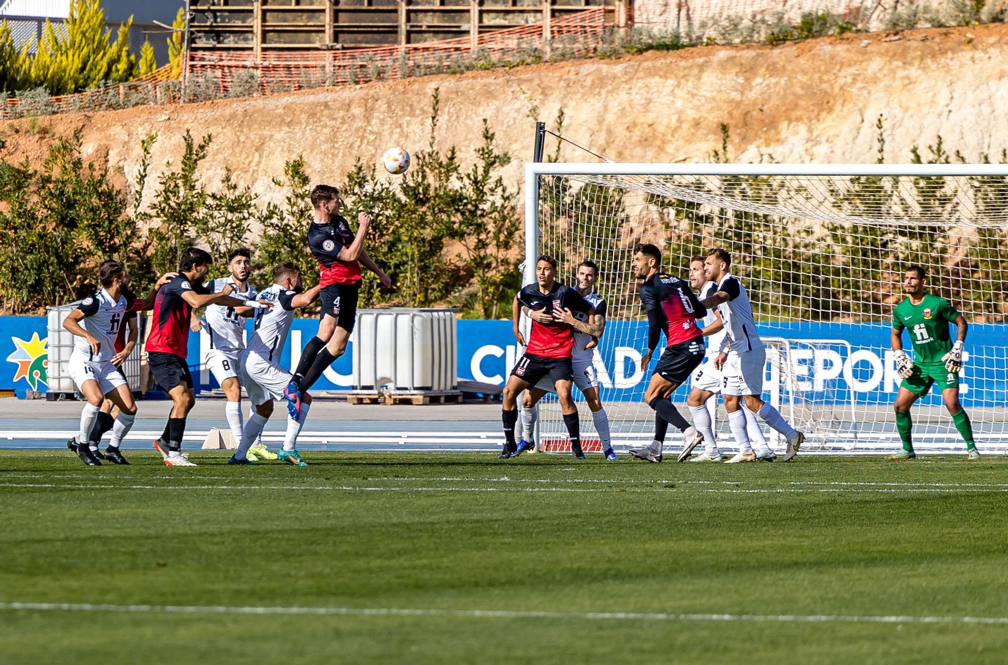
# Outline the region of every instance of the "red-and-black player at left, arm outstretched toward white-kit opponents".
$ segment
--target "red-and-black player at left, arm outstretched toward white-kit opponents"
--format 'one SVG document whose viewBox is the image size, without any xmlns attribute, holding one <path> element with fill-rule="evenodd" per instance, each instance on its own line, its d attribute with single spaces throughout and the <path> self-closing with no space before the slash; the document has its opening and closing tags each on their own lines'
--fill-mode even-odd
<svg viewBox="0 0 1008 665">
<path fill-rule="evenodd" d="M 190 375 L 188 334 L 193 309 L 209 304 L 227 307 L 269 307 L 273 303 L 242 300 L 231 297 L 234 285 L 212 293 L 203 285 L 210 272 L 211 256 L 208 252 L 191 247 L 182 254 L 178 274 L 161 287 L 154 300 L 150 335 L 147 336 L 147 363 L 157 385 L 171 398 L 171 412 L 164 432 L 154 441 L 154 448 L 164 455 L 168 467 L 195 467 L 181 453 L 182 435 L 185 433 L 185 416 L 196 404 L 193 377 Z M 167 451 L 164 448 L 167 447 Z"/>
</svg>

